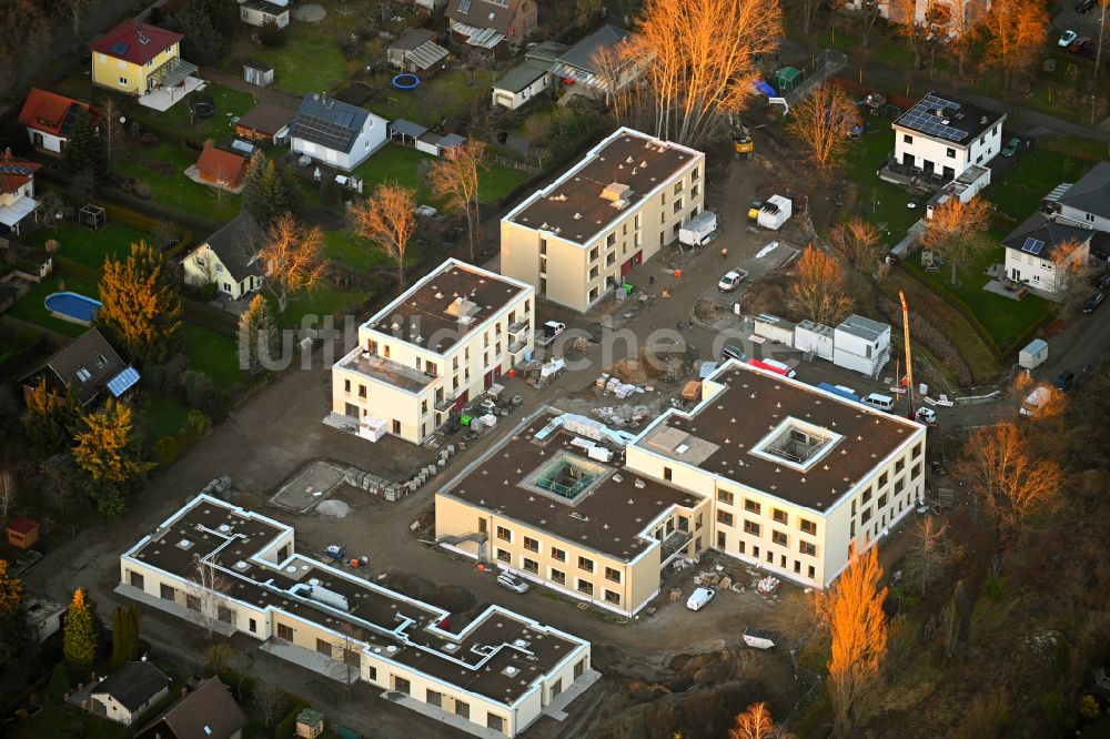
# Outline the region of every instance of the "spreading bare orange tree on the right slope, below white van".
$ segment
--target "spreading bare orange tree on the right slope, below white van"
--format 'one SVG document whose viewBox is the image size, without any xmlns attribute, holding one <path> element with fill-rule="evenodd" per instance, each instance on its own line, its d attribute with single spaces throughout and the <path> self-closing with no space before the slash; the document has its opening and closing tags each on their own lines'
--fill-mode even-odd
<svg viewBox="0 0 1110 739">
<path fill-rule="evenodd" d="M 1066 479 L 1060 465 L 1038 457 L 1026 432 L 1011 423 L 972 433 L 956 474 L 986 505 L 1003 539 L 1054 510 Z"/>
</svg>

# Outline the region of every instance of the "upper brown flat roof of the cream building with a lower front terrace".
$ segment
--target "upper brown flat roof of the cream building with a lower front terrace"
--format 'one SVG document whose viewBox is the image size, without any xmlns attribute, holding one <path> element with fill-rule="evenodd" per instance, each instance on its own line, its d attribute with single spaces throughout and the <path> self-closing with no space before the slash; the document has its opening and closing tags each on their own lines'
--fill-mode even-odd
<svg viewBox="0 0 1110 739">
<path fill-rule="evenodd" d="M 363 326 L 443 354 L 526 290 L 523 282 L 447 260 Z"/>
</svg>

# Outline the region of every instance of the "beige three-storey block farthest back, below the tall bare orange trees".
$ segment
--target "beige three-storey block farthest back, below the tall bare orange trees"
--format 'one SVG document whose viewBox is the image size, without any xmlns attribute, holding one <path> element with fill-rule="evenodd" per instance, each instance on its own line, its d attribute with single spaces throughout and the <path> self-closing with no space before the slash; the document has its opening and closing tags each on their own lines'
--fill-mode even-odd
<svg viewBox="0 0 1110 739">
<path fill-rule="evenodd" d="M 501 221 L 501 272 L 586 311 L 702 212 L 705 154 L 619 129 Z"/>
</svg>

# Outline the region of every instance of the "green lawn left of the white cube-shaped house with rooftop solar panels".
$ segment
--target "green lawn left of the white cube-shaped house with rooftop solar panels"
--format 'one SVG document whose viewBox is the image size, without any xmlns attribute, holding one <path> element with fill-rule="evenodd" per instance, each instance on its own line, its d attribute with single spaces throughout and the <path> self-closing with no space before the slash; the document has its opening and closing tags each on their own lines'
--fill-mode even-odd
<svg viewBox="0 0 1110 739">
<path fill-rule="evenodd" d="M 901 188 L 879 180 L 876 172 L 881 168 L 890 152 L 894 151 L 894 140 L 886 126 L 871 128 L 858 141 L 852 141 L 842 158 L 845 172 L 859 188 L 860 214 L 875 223 L 884 235 L 884 243 L 894 246 L 906 235 L 906 232 L 922 215 L 925 199 L 911 196 Z M 916 202 L 916 209 L 907 207 L 907 203 Z"/>
</svg>

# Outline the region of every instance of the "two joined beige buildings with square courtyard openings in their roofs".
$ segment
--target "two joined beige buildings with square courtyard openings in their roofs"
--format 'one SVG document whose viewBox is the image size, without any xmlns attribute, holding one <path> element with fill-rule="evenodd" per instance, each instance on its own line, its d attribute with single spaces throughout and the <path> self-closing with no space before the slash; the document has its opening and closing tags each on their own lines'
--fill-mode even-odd
<svg viewBox="0 0 1110 739">
<path fill-rule="evenodd" d="M 925 495 L 926 428 L 731 362 L 637 436 L 529 418 L 436 495 L 440 544 L 624 615 L 713 548 L 825 588 Z"/>
</svg>

